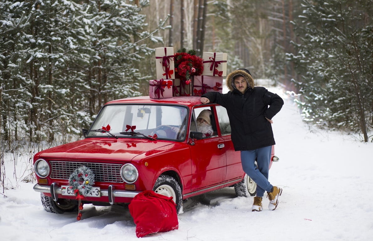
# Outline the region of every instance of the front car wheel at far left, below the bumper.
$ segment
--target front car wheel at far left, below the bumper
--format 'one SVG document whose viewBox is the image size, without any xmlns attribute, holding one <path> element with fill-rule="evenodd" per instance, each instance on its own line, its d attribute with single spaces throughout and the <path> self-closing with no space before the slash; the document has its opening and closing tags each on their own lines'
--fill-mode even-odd
<svg viewBox="0 0 373 241">
<path fill-rule="evenodd" d="M 73 204 L 70 199 L 59 199 L 55 202 L 51 197 L 40 194 L 41 203 L 44 209 L 50 213 L 65 213 L 78 211 L 78 205 Z"/>
</svg>

